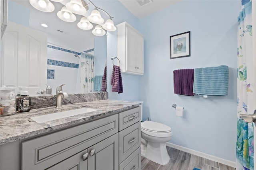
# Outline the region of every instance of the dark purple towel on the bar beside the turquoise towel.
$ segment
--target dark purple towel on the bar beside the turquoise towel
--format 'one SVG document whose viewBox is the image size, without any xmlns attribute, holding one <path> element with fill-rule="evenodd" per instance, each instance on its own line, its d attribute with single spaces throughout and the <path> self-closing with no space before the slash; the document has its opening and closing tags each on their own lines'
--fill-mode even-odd
<svg viewBox="0 0 256 170">
<path fill-rule="evenodd" d="M 180 69 L 173 71 L 174 93 L 194 96 L 194 69 Z"/>
</svg>

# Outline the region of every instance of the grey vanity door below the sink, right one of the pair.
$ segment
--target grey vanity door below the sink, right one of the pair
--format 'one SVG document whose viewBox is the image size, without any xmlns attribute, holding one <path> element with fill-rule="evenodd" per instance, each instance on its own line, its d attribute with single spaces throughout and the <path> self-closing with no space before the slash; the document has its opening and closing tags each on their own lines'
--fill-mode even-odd
<svg viewBox="0 0 256 170">
<path fill-rule="evenodd" d="M 118 133 L 88 148 L 88 170 L 118 170 Z"/>
</svg>

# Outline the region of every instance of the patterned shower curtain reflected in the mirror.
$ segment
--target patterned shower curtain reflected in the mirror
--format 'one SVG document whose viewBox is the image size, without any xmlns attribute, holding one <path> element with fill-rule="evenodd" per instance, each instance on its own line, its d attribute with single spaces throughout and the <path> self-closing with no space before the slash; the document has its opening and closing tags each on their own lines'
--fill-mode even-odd
<svg viewBox="0 0 256 170">
<path fill-rule="evenodd" d="M 94 55 L 82 53 L 79 59 L 76 91 L 78 93 L 93 92 L 94 86 Z"/>
</svg>

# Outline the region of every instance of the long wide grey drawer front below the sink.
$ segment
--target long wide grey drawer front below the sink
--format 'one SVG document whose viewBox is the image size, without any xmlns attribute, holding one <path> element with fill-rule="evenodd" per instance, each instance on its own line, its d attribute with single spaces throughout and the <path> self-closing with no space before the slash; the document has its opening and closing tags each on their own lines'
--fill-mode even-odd
<svg viewBox="0 0 256 170">
<path fill-rule="evenodd" d="M 118 114 L 22 142 L 22 170 L 46 169 L 118 132 Z"/>
</svg>

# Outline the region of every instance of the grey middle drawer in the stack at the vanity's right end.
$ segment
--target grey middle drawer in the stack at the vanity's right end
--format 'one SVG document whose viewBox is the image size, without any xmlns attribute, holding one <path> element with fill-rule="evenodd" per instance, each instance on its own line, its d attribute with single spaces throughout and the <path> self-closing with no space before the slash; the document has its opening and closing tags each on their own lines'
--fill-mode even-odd
<svg viewBox="0 0 256 170">
<path fill-rule="evenodd" d="M 119 163 L 140 146 L 140 122 L 119 132 Z"/>
</svg>

